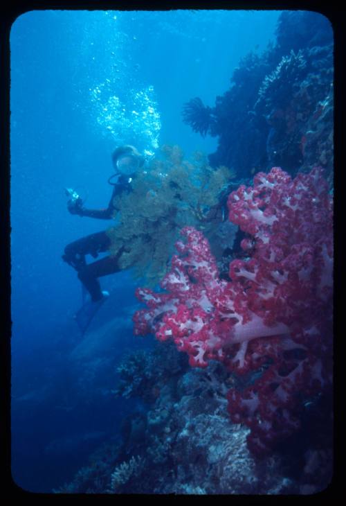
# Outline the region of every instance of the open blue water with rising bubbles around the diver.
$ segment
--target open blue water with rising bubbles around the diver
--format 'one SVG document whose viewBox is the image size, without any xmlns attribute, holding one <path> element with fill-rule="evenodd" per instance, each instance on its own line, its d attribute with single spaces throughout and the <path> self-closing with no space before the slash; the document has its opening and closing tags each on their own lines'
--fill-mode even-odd
<svg viewBox="0 0 346 506">
<path fill-rule="evenodd" d="M 102 278 L 111 297 L 81 340 L 73 321 L 80 283 L 61 255 L 109 222 L 71 216 L 64 187 L 78 186 L 89 208 L 106 207 L 121 141 L 148 156 L 164 143 L 187 156 L 214 151 L 217 139 L 192 132 L 181 108 L 195 96 L 212 106 L 239 60 L 273 40 L 279 14 L 46 10 L 13 24 L 12 476 L 20 487 L 60 487 L 98 444 L 116 441 L 134 401 L 111 396 L 114 368 L 125 352 L 152 344 L 132 335 L 130 272 Z M 154 112 L 138 120 L 131 101 L 138 114 Z"/>
</svg>

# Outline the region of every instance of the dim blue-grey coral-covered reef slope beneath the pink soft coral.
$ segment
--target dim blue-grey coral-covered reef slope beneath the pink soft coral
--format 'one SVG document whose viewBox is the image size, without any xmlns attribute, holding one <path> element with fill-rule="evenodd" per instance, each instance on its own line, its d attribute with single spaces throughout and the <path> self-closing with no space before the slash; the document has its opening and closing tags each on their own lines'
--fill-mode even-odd
<svg viewBox="0 0 346 506">
<path fill-rule="evenodd" d="M 248 428 L 229 422 L 225 392 L 236 380 L 221 363 L 190 369 L 174 344 L 157 343 L 145 357 L 126 356 L 118 374 L 116 394 L 142 399 L 147 410 L 128 417 L 122 441 L 100 446 L 57 493 L 311 494 L 327 486 L 325 399 L 304 407 L 298 439 L 257 461 L 246 446 Z"/>
</svg>

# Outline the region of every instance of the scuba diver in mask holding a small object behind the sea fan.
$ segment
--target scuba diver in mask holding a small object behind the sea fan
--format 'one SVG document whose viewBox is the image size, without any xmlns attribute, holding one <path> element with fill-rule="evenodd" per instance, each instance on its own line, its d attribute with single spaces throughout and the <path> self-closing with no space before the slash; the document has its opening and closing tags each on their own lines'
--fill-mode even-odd
<svg viewBox="0 0 346 506">
<path fill-rule="evenodd" d="M 82 198 L 75 191 L 66 189 L 66 193 L 71 197 L 68 202 L 68 210 L 71 214 L 101 220 L 111 220 L 116 215 L 119 209 L 114 207 L 114 197 L 124 191 L 127 193 L 132 191 L 131 181 L 136 177 L 138 169 L 143 167 L 145 159 L 134 146 L 125 145 L 114 150 L 112 162 L 115 174 L 111 175 L 108 180 L 109 184 L 113 185 L 108 207 L 105 209 L 86 209 Z M 114 177 L 117 177 L 116 182 L 112 182 Z M 110 245 L 111 241 L 105 231 L 96 232 L 67 245 L 62 256 L 62 259 L 78 272 L 78 279 L 91 296 L 91 301 L 84 304 L 75 315 L 82 333 L 86 331 L 93 315 L 98 311 L 104 299 L 109 297 L 108 292 L 101 290 L 98 278 L 120 270 L 118 261 L 124 249 L 120 248 L 115 256 L 105 256 L 93 263 L 86 263 L 85 256 L 91 254 L 93 258 L 97 258 L 99 253 L 107 252 Z"/>
</svg>

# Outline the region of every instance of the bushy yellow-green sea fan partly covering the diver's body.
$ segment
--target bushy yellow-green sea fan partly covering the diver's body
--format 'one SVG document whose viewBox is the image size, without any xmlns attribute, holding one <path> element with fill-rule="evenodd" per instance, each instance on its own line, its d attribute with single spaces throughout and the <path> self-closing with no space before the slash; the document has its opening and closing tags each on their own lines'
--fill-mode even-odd
<svg viewBox="0 0 346 506">
<path fill-rule="evenodd" d="M 119 218 L 107 231 L 110 253 L 124 249 L 120 268 L 134 267 L 134 275 L 149 286 L 165 274 L 181 227 L 214 233 L 222 217 L 212 210 L 233 176 L 226 167 L 213 170 L 200 155 L 193 163 L 184 161 L 178 146 L 163 146 L 163 155 L 134 178 L 131 193 L 115 198 Z"/>
</svg>

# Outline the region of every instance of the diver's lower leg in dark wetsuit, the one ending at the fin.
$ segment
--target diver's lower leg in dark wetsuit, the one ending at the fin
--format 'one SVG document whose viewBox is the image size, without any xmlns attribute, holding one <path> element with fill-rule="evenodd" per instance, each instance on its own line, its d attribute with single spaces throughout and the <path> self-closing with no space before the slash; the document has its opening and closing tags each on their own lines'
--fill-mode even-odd
<svg viewBox="0 0 346 506">
<path fill-rule="evenodd" d="M 91 300 L 94 302 L 103 297 L 98 278 L 121 270 L 118 265 L 118 259 L 121 254 L 122 250 L 116 256 L 106 256 L 104 259 L 84 265 L 83 268 L 78 270 L 78 278 L 82 281 L 86 290 L 89 291 Z"/>
</svg>

